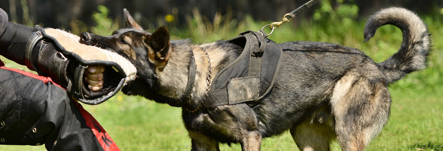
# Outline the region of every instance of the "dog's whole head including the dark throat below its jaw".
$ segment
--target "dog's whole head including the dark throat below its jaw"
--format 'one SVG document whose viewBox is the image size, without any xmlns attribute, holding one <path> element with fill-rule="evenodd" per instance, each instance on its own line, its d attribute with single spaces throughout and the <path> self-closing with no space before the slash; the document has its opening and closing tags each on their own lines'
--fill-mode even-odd
<svg viewBox="0 0 443 151">
<path fill-rule="evenodd" d="M 162 70 L 170 55 L 169 29 L 166 26 L 158 28 L 154 33 L 145 32 L 124 11 L 126 28 L 114 31 L 110 36 L 100 36 L 91 33 L 81 33 L 80 42 L 114 51 L 134 64 L 137 68 L 137 78 L 125 86 L 122 91 L 128 95 L 146 95 L 137 92 L 155 87 L 156 70 Z M 131 87 L 131 88 L 128 88 Z M 145 96 L 146 97 L 146 96 Z"/>
</svg>

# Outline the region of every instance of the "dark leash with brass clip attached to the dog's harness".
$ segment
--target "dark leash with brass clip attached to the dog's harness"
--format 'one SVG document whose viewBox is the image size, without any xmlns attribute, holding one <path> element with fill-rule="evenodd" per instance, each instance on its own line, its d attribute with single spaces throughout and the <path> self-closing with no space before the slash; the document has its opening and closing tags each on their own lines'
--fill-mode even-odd
<svg viewBox="0 0 443 151">
<path fill-rule="evenodd" d="M 296 10 L 293 10 L 292 12 L 285 14 L 285 15 L 283 16 L 283 18 L 281 19 L 280 22 L 273 22 L 273 23 L 271 23 L 271 24 L 265 25 L 265 26 L 263 26 L 263 28 L 261 28 L 258 32 L 260 32 L 261 34 L 263 34 L 263 36 L 265 36 L 265 37 L 269 37 L 269 36 L 274 32 L 274 29 L 275 29 L 275 28 L 277 28 L 277 27 L 281 27 L 281 25 L 282 25 L 283 23 L 290 22 L 290 21 L 292 20 L 292 18 L 296 17 L 298 14 L 300 14 L 300 13 L 303 12 L 303 11 L 305 11 L 307 8 L 310 8 L 311 6 L 313 6 L 314 4 L 316 4 L 316 3 L 319 2 L 319 1 L 320 1 L 320 0 L 311 0 L 311 1 L 307 2 L 307 3 L 305 3 L 304 5 L 302 5 L 301 7 L 297 8 Z M 289 18 L 288 18 L 288 17 L 289 17 Z M 269 34 L 266 34 L 266 33 L 263 31 L 263 29 L 264 29 L 266 26 L 269 26 L 269 28 L 271 28 L 271 32 L 270 32 Z"/>
</svg>

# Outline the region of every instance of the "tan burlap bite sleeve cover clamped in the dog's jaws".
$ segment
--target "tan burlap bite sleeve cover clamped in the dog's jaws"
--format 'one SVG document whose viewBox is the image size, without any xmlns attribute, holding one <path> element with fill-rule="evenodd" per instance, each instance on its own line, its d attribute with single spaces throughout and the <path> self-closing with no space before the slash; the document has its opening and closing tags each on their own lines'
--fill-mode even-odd
<svg viewBox="0 0 443 151">
<path fill-rule="evenodd" d="M 92 100 L 85 98 L 82 93 L 73 93 L 73 97 L 79 101 L 92 105 L 102 103 L 114 96 L 124 84 L 135 79 L 137 72 L 135 66 L 121 55 L 99 47 L 82 44 L 79 42 L 79 36 L 63 30 L 44 28 L 41 29 L 41 32 L 46 39 L 51 40 L 57 51 L 78 60 L 80 64 L 85 66 L 93 64 L 112 66 L 124 78 L 124 80 L 121 79 L 115 90 L 104 96 L 92 98 Z M 76 73 L 75 77 L 79 79 L 78 81 L 81 81 L 83 72 L 80 74 Z M 76 89 L 75 91 L 81 90 Z"/>
</svg>

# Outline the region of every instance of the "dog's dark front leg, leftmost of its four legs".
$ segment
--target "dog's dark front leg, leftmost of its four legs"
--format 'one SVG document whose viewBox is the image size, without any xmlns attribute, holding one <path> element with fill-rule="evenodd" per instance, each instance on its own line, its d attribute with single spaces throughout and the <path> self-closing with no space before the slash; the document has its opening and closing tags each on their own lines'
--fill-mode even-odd
<svg viewBox="0 0 443 151">
<path fill-rule="evenodd" d="M 188 132 L 192 142 L 191 151 L 220 151 L 218 141 L 195 131 L 188 130 Z"/>
</svg>

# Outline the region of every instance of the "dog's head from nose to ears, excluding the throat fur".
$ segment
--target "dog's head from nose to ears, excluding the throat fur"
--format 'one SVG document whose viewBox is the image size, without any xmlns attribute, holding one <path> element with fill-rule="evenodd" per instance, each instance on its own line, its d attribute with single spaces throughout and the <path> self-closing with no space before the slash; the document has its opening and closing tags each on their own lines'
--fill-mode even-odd
<svg viewBox="0 0 443 151">
<path fill-rule="evenodd" d="M 157 67 L 163 67 L 169 58 L 169 29 L 166 26 L 158 28 L 154 33 L 145 32 L 131 15 L 123 10 L 126 28 L 116 30 L 110 36 L 99 36 L 91 33 L 81 33 L 80 42 L 87 45 L 109 49 L 134 61 L 146 53 L 147 59 Z"/>
</svg>

